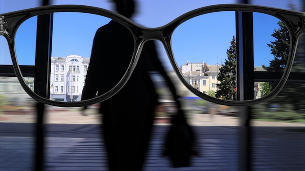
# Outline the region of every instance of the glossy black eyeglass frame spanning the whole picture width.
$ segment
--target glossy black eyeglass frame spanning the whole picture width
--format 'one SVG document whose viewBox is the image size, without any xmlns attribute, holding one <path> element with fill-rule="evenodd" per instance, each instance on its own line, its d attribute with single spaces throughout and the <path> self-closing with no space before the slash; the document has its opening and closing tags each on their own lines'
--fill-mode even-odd
<svg viewBox="0 0 305 171">
<path fill-rule="evenodd" d="M 264 13 L 273 17 L 277 17 L 278 19 L 283 21 L 287 26 L 290 35 L 290 51 L 289 51 L 289 57 L 287 59 L 286 68 L 285 71 L 283 72 L 282 78 L 279 81 L 279 84 L 267 96 L 264 96 L 260 99 L 255 99 L 255 100 L 253 99 L 246 101 L 229 101 L 229 100 L 211 98 L 210 96 L 204 93 L 198 92 L 194 87 L 189 85 L 188 82 L 185 80 L 184 76 L 182 75 L 182 73 L 179 72 L 179 67 L 175 63 L 175 59 L 171 48 L 171 36 L 174 30 L 181 23 L 183 23 L 188 19 L 191 19 L 192 17 L 213 13 L 213 12 L 221 12 L 221 11 L 242 11 L 242 12 Z M 18 27 L 26 19 L 38 15 L 51 14 L 56 12 L 81 12 L 81 13 L 88 13 L 88 14 L 95 14 L 104 17 L 109 17 L 110 19 L 125 26 L 133 34 L 135 46 L 133 50 L 133 56 L 131 58 L 131 63 L 129 64 L 129 67 L 125 72 L 123 78 L 111 90 L 98 97 L 89 100 L 77 101 L 77 102 L 56 102 L 39 96 L 26 85 L 26 81 L 22 77 L 22 73 L 20 71 L 17 61 L 16 50 L 15 50 L 15 34 L 17 33 Z M 172 20 L 170 23 L 164 26 L 157 28 L 143 27 L 139 24 L 136 24 L 129 18 L 121 16 L 112 11 L 102 8 L 92 7 L 92 6 L 83 6 L 83 5 L 41 6 L 37 8 L 0 14 L 0 35 L 3 35 L 8 41 L 13 68 L 18 77 L 20 85 L 23 87 L 23 89 L 27 94 L 29 94 L 33 99 L 37 100 L 38 102 L 55 105 L 55 106 L 61 106 L 61 107 L 85 106 L 94 103 L 99 103 L 111 98 L 126 84 L 128 79 L 130 78 L 133 69 L 135 68 L 137 61 L 140 57 L 140 52 L 143 48 L 143 45 L 146 41 L 149 40 L 159 40 L 162 42 L 168 54 L 170 62 L 172 64 L 172 67 L 175 73 L 177 74 L 178 78 L 192 93 L 194 93 L 198 97 L 201 97 L 212 103 L 231 105 L 231 106 L 246 106 L 246 105 L 253 105 L 253 104 L 265 102 L 270 98 L 274 97 L 276 94 L 278 94 L 285 85 L 290 70 L 292 68 L 292 63 L 295 57 L 298 39 L 301 36 L 301 34 L 305 32 L 304 28 L 305 28 L 305 13 L 303 12 L 257 6 L 257 5 L 249 5 L 249 4 L 220 4 L 220 5 L 211 5 L 207 7 L 198 8 L 188 13 L 185 13 L 180 17 L 177 17 L 176 19 Z"/>
</svg>

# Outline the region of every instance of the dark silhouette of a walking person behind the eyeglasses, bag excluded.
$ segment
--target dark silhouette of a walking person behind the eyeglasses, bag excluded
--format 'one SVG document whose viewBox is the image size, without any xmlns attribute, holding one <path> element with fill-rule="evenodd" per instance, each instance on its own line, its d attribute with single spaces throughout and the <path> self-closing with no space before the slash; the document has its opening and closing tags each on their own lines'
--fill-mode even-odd
<svg viewBox="0 0 305 171">
<path fill-rule="evenodd" d="M 119 14 L 131 18 L 133 0 L 114 0 Z M 94 98 L 116 85 L 126 72 L 134 50 L 131 32 L 112 20 L 95 34 L 82 100 Z M 115 66 L 115 67 L 114 67 Z M 141 171 L 152 133 L 154 110 L 158 103 L 149 75 L 158 71 L 178 99 L 175 87 L 163 68 L 153 41 L 147 41 L 134 71 L 124 87 L 101 102 L 102 135 L 110 171 Z"/>
</svg>

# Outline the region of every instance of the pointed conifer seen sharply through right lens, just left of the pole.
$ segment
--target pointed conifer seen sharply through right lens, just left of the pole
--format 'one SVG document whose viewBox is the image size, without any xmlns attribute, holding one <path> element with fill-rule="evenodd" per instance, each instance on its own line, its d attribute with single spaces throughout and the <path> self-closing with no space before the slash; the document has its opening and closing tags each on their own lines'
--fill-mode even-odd
<svg viewBox="0 0 305 171">
<path fill-rule="evenodd" d="M 231 46 L 227 50 L 228 59 L 219 68 L 216 97 L 225 100 L 236 100 L 236 39 L 233 35 Z"/>
</svg>

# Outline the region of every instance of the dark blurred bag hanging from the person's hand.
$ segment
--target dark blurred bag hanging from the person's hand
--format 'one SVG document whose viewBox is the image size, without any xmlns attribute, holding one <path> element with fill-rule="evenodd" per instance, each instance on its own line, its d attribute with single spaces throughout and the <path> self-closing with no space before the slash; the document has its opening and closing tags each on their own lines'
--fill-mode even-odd
<svg viewBox="0 0 305 171">
<path fill-rule="evenodd" d="M 193 131 L 183 110 L 179 109 L 177 114 L 172 116 L 172 126 L 166 136 L 163 155 L 170 157 L 174 168 L 188 167 L 191 164 L 191 155 L 197 155 L 194 143 Z"/>
</svg>

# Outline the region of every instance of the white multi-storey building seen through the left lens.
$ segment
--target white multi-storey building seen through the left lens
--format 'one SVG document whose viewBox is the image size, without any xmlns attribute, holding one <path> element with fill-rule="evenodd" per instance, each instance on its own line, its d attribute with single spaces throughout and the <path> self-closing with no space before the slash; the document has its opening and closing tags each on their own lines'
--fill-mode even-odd
<svg viewBox="0 0 305 171">
<path fill-rule="evenodd" d="M 80 101 L 90 58 L 78 55 L 52 57 L 50 100 Z"/>
</svg>

